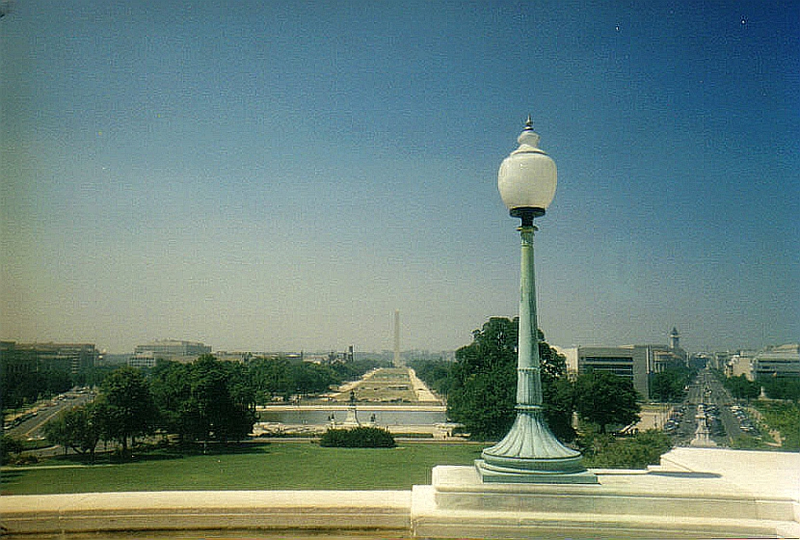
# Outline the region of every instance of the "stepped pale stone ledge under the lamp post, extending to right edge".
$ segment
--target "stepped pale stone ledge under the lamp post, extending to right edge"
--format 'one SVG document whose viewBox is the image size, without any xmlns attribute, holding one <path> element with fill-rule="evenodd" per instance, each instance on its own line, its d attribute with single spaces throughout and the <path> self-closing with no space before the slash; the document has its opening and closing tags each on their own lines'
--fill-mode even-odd
<svg viewBox="0 0 800 540">
<path fill-rule="evenodd" d="M 800 455 L 679 448 L 646 471 L 593 470 L 598 484 L 494 484 L 442 466 L 415 486 L 415 536 L 798 538 Z"/>
</svg>

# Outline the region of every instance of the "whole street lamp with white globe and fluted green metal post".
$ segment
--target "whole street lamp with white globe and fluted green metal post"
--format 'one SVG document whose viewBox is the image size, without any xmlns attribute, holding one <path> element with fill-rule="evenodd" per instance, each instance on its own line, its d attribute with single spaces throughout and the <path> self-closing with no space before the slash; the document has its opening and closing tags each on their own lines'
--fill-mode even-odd
<svg viewBox="0 0 800 540">
<path fill-rule="evenodd" d="M 580 452 L 561 444 L 542 414 L 533 220 L 543 216 L 552 202 L 557 174 L 553 160 L 539 148 L 530 117 L 517 142 L 519 148 L 503 160 L 497 174 L 503 202 L 511 216 L 522 220 L 517 229 L 522 239 L 517 417 L 505 438 L 485 449 L 475 465 L 484 482 L 594 484 L 597 477 L 582 465 Z"/>
</svg>

